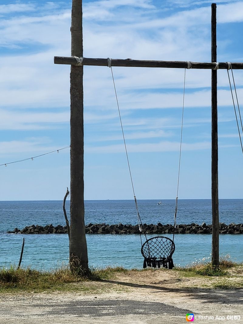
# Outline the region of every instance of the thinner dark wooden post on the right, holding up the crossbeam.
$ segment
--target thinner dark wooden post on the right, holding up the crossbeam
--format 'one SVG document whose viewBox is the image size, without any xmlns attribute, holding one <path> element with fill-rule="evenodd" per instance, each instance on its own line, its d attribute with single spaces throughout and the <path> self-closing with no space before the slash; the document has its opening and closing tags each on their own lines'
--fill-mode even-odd
<svg viewBox="0 0 243 324">
<path fill-rule="evenodd" d="M 217 62 L 216 4 L 211 18 L 212 62 Z M 219 266 L 217 70 L 212 70 L 212 264 Z"/>
</svg>

